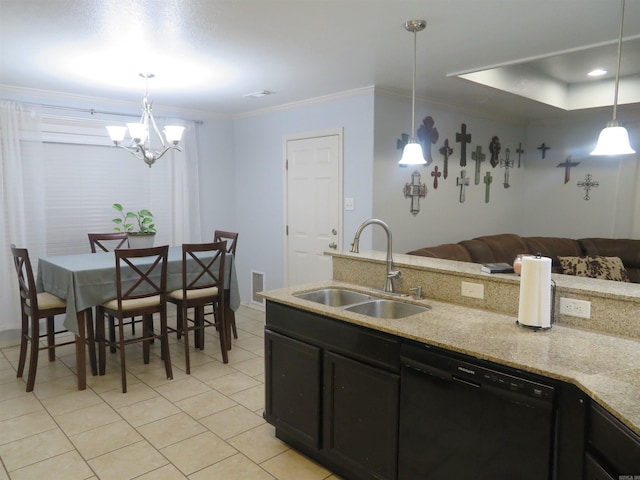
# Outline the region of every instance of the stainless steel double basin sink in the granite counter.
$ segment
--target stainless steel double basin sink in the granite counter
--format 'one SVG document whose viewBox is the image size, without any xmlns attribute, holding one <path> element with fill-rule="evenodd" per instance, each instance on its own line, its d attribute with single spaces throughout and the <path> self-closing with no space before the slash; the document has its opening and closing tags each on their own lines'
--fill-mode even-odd
<svg viewBox="0 0 640 480">
<path fill-rule="evenodd" d="M 404 318 L 429 311 L 429 307 L 377 298 L 342 288 L 322 288 L 294 294 L 294 297 L 375 318 Z"/>
</svg>

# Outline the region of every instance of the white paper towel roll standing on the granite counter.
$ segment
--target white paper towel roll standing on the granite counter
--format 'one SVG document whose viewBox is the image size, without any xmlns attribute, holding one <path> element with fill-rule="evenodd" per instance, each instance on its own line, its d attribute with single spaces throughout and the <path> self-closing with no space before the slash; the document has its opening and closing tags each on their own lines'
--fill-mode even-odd
<svg viewBox="0 0 640 480">
<path fill-rule="evenodd" d="M 524 257 L 520 275 L 518 323 L 536 328 L 551 327 L 551 259 Z"/>
</svg>

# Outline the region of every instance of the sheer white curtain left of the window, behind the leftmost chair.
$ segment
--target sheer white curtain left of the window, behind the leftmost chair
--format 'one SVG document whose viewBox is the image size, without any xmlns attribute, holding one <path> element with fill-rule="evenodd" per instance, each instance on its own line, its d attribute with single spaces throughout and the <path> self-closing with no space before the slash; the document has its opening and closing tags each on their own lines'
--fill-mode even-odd
<svg viewBox="0 0 640 480">
<path fill-rule="evenodd" d="M 29 249 L 35 268 L 45 252 L 44 178 L 40 113 L 0 101 L 0 331 L 20 327 L 17 277 L 10 245 Z"/>
</svg>

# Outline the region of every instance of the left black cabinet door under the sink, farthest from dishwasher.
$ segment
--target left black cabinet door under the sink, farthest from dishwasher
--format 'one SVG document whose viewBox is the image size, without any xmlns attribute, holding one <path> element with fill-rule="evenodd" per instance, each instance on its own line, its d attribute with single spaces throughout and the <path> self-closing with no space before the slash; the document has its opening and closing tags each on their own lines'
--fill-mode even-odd
<svg viewBox="0 0 640 480">
<path fill-rule="evenodd" d="M 265 419 L 311 448 L 320 448 L 321 350 L 265 331 Z"/>
</svg>

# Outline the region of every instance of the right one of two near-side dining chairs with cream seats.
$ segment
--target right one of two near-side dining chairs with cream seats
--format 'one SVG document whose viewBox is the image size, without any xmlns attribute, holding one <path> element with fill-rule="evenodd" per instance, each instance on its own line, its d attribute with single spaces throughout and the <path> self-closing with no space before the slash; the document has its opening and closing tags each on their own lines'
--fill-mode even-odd
<svg viewBox="0 0 640 480">
<path fill-rule="evenodd" d="M 169 292 L 167 301 L 176 305 L 176 332 L 184 337 L 185 368 L 191 373 L 189 332 L 194 332 L 196 348 L 204 349 L 204 329 L 216 327 L 222 361 L 229 363 L 225 321 L 224 262 L 226 241 L 182 245 L 182 288 Z M 204 315 L 204 307 L 213 308 L 213 321 Z M 189 309 L 193 317 L 189 318 Z M 190 322 L 192 325 L 190 326 Z"/>
</svg>

